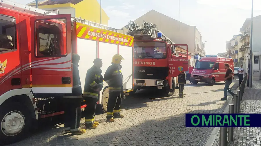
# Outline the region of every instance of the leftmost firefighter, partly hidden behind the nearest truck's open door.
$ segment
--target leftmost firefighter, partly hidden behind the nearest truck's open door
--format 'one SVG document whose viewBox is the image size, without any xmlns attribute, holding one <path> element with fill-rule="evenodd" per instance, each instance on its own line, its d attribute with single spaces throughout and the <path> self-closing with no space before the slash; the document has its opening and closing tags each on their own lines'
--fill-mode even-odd
<svg viewBox="0 0 261 146">
<path fill-rule="evenodd" d="M 81 120 L 81 81 L 79 76 L 78 63 L 80 56 L 78 54 L 72 55 L 73 61 L 73 89 L 72 93 L 63 96 L 64 101 L 64 130 L 65 133 L 72 133 L 73 135 L 84 134 L 86 130 L 80 129 Z"/>
</svg>

